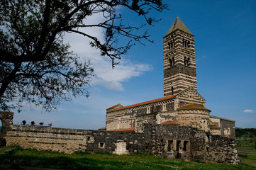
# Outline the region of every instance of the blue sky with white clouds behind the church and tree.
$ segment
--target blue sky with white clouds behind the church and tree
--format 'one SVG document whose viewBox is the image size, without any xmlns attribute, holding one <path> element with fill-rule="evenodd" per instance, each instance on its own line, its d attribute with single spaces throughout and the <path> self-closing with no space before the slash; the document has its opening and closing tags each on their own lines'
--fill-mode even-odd
<svg viewBox="0 0 256 170">
<path fill-rule="evenodd" d="M 128 106 L 163 97 L 162 38 L 179 17 L 194 35 L 197 86 L 206 99 L 211 115 L 235 120 L 239 128 L 256 128 L 256 1 L 209 0 L 163 1 L 169 10 L 152 12 L 162 18 L 147 26 L 154 43 L 137 44 L 114 69 L 111 60 L 89 47 L 89 40 L 66 34 L 65 41 L 79 57 L 91 60 L 94 77 L 88 87 L 89 98 L 62 102 L 50 113 L 40 107 L 25 106 L 14 112 L 13 124 L 35 121 L 52 123 L 55 128 L 98 129 L 106 126 L 106 108 L 121 103 Z M 124 21 L 141 24 L 143 18 L 119 8 Z M 132 18 L 132 19 L 131 19 Z M 89 23 L 102 21 L 101 16 Z M 102 30 L 87 33 L 102 35 Z M 123 39 L 121 39 L 121 42 Z"/>
</svg>

